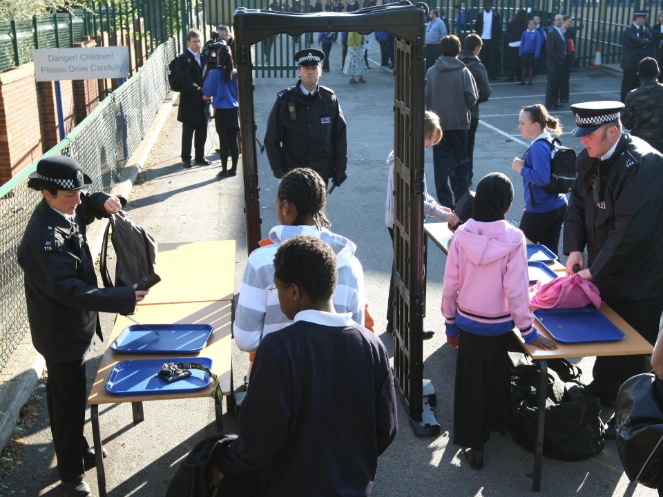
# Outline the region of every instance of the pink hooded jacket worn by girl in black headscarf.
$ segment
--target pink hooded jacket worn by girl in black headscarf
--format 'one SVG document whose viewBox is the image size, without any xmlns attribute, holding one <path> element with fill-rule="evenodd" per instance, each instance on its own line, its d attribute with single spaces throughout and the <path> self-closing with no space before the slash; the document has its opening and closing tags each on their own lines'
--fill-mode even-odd
<svg viewBox="0 0 663 497">
<path fill-rule="evenodd" d="M 454 324 L 457 313 L 475 322 L 513 320 L 530 338 L 525 236 L 506 220 L 463 224 L 451 243 L 444 271 L 442 314 Z"/>
</svg>

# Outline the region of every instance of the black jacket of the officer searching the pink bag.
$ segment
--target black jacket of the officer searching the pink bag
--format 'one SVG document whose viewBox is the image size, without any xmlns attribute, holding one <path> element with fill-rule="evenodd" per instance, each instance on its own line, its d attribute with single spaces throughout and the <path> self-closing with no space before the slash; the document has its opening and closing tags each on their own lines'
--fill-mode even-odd
<svg viewBox="0 0 663 497">
<path fill-rule="evenodd" d="M 610 159 L 599 161 L 583 150 L 577 166 L 564 253 L 587 246 L 587 267 L 607 302 L 663 295 L 663 156 L 624 133 Z"/>
</svg>

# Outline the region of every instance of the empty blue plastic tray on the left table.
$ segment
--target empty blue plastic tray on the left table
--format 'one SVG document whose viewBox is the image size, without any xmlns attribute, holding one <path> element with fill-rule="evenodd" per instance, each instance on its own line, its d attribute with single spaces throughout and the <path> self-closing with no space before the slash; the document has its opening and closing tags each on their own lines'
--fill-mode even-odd
<svg viewBox="0 0 663 497">
<path fill-rule="evenodd" d="M 111 344 L 118 353 L 195 353 L 204 349 L 209 324 L 131 324 Z"/>
</svg>

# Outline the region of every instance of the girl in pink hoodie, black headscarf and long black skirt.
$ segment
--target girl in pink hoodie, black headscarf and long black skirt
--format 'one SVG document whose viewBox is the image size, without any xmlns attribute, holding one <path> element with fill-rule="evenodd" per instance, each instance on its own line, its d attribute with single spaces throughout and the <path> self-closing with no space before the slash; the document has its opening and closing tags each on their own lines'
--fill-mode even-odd
<svg viewBox="0 0 663 497">
<path fill-rule="evenodd" d="M 557 348 L 532 328 L 525 236 L 504 218 L 512 201 L 506 175 L 481 179 L 474 215 L 454 234 L 444 271 L 447 343 L 458 351 L 453 441 L 466 447 L 465 458 L 474 469 L 483 467 L 490 432 L 506 433 L 512 329 L 517 327 L 528 344 Z"/>
</svg>

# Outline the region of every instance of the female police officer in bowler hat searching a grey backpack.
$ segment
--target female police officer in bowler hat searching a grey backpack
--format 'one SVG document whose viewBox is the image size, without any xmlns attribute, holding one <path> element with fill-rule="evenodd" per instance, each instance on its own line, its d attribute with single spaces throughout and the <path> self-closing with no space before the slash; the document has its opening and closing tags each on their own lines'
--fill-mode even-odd
<svg viewBox="0 0 663 497">
<path fill-rule="evenodd" d="M 46 359 L 46 403 L 62 487 L 67 495 L 86 497 L 85 469 L 95 465 L 95 454 L 83 435 L 85 355 L 95 333 L 102 338 L 97 313 L 131 313 L 147 292 L 97 286 L 86 226 L 121 210 L 124 199 L 82 191 L 92 180 L 71 157 L 41 159 L 29 178 L 28 187 L 42 196 L 17 254 L 30 333 Z"/>
</svg>

